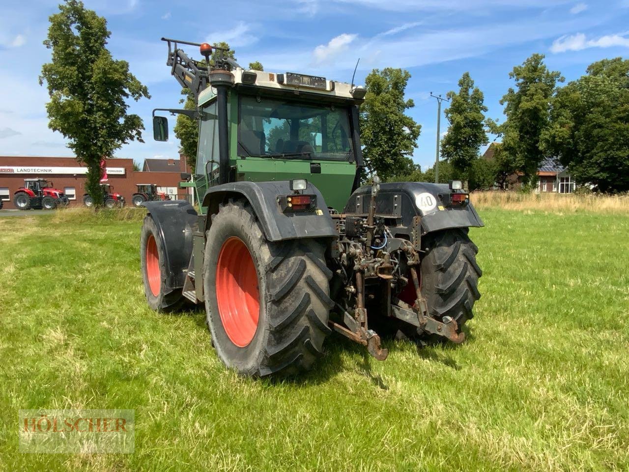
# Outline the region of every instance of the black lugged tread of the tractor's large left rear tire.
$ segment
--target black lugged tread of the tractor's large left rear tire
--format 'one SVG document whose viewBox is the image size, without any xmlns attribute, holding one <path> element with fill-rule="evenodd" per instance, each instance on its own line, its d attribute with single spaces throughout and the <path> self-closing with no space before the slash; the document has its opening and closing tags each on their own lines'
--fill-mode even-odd
<svg viewBox="0 0 629 472">
<path fill-rule="evenodd" d="M 253 245 L 259 245 L 259 249 L 251 250 L 260 254 L 260 277 L 265 282 L 260 286 L 266 291 L 263 294 L 260 289 L 260 298 L 264 298 L 261 309 L 265 306 L 265 317 L 261 313 L 260 320 L 266 318 L 266 322 L 258 328 L 266 330 L 260 333 L 264 344 L 256 351 L 255 361 L 247 368 L 237 368 L 238 373 L 282 378 L 310 370 L 323 356 L 323 342 L 331 332 L 328 315 L 333 305 L 329 295 L 332 273 L 325 263 L 325 244 L 316 239 L 267 241 L 255 213 L 242 199 L 219 205 L 212 225 L 224 222 L 223 218 L 237 218 L 255 241 Z M 208 322 L 210 317 L 208 313 Z M 227 354 L 222 349 L 217 352 L 230 366 Z"/>
</svg>

